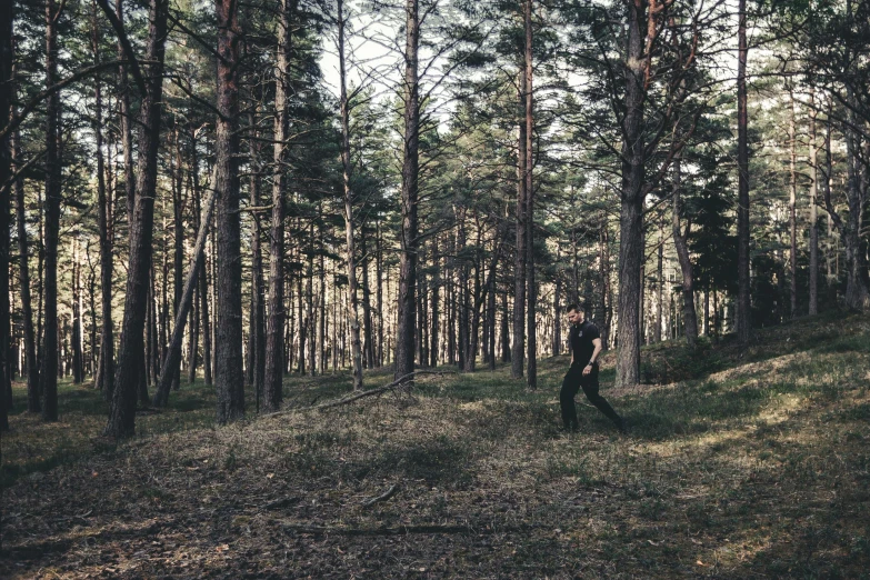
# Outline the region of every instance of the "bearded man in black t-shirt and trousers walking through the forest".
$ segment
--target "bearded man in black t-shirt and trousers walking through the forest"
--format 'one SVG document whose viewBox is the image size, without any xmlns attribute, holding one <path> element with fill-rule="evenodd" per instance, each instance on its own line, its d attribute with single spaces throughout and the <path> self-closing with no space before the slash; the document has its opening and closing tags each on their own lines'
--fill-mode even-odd
<svg viewBox="0 0 870 580">
<path fill-rule="evenodd" d="M 586 308 L 569 304 L 568 321 L 571 323 L 571 368 L 562 380 L 559 402 L 562 407 L 562 422 L 566 431 L 577 431 L 577 408 L 574 396 L 580 387 L 589 402 L 626 432 L 626 421 L 617 414 L 607 399 L 598 394 L 598 356 L 601 353 L 601 333 L 592 322 L 586 320 Z"/>
</svg>

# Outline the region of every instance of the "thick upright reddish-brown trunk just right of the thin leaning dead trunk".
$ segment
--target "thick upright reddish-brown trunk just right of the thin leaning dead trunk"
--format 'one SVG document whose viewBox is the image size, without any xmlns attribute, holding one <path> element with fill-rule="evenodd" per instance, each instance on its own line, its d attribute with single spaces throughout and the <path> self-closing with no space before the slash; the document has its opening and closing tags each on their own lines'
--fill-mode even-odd
<svg viewBox="0 0 870 580">
<path fill-rule="evenodd" d="M 244 416 L 241 312 L 241 226 L 239 219 L 238 61 L 239 4 L 216 0 L 218 20 L 218 111 L 214 140 L 214 191 L 218 196 L 218 279 L 214 387 L 217 420 L 228 423 Z"/>
</svg>

